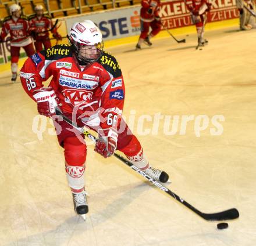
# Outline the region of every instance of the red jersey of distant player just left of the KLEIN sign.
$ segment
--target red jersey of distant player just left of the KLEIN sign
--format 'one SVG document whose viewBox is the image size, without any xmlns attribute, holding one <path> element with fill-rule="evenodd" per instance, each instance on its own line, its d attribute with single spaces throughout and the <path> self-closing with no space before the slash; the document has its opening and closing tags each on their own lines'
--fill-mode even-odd
<svg viewBox="0 0 256 246">
<path fill-rule="evenodd" d="M 140 9 L 140 19 L 145 22 L 151 22 L 155 17 L 159 17 L 160 10 L 160 0 L 142 0 L 142 8 Z M 152 9 L 152 12 L 149 13 L 148 10 Z"/>
</svg>

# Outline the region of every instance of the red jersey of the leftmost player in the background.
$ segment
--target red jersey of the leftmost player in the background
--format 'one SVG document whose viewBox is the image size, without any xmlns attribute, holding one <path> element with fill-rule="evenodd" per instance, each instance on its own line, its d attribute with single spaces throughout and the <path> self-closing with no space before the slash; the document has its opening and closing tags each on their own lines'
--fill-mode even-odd
<svg viewBox="0 0 256 246">
<path fill-rule="evenodd" d="M 3 19 L 3 27 L 1 38 L 5 38 L 10 34 L 10 45 L 23 47 L 31 44 L 32 40 L 29 37 L 29 21 L 26 16 L 20 16 L 16 21 L 12 16 L 7 16 Z"/>
</svg>

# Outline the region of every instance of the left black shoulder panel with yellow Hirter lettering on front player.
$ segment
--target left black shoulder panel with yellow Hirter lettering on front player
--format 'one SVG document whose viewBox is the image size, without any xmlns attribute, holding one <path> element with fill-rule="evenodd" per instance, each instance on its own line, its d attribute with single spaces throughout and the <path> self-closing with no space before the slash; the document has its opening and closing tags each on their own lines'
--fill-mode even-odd
<svg viewBox="0 0 256 246">
<path fill-rule="evenodd" d="M 55 45 L 42 50 L 40 53 L 45 57 L 45 60 L 58 60 L 72 56 L 72 49 L 70 45 Z"/>
</svg>

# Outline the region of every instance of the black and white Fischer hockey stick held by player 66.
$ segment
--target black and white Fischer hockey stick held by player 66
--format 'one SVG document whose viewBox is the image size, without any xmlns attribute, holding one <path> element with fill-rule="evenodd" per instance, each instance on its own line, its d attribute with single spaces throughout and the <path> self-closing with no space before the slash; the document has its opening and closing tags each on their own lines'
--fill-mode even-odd
<svg viewBox="0 0 256 246">
<path fill-rule="evenodd" d="M 86 129 L 80 128 L 77 126 L 72 120 L 67 118 L 65 115 L 62 114 L 61 110 L 59 108 L 55 108 L 56 115 L 60 115 L 65 122 L 67 122 L 69 125 L 72 125 L 75 129 L 77 129 L 79 132 L 83 133 L 85 136 L 93 140 L 94 142 L 97 142 L 97 138 L 95 138 L 93 135 L 91 135 L 90 132 L 87 132 Z M 236 208 L 231 208 L 222 212 L 214 213 L 214 214 L 205 214 L 201 211 L 199 211 L 197 208 L 193 207 L 193 205 L 189 204 L 189 202 L 185 201 L 181 197 L 177 196 L 173 191 L 169 190 L 165 186 L 163 186 L 161 183 L 157 182 L 156 180 L 152 179 L 150 176 L 148 176 L 145 172 L 141 171 L 139 168 L 134 166 L 130 161 L 126 160 L 126 158 L 122 157 L 119 154 L 114 153 L 115 157 L 118 158 L 120 161 L 125 163 L 128 167 L 139 173 L 144 178 L 148 179 L 154 186 L 158 187 L 160 190 L 165 191 L 169 196 L 175 198 L 177 201 L 182 203 L 184 206 L 189 208 L 191 211 L 193 211 L 195 214 L 199 215 L 201 218 L 205 220 L 227 220 L 227 219 L 237 219 L 239 218 L 239 211 L 237 211 Z"/>
</svg>

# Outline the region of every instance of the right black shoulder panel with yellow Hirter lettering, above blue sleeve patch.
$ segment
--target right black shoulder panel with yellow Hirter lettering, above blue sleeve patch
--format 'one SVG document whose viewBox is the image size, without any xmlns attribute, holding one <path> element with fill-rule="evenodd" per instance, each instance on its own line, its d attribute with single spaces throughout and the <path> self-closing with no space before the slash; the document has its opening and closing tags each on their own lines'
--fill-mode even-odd
<svg viewBox="0 0 256 246">
<path fill-rule="evenodd" d="M 101 57 L 99 57 L 98 61 L 99 64 L 102 65 L 102 67 L 105 68 L 106 71 L 114 75 L 114 77 L 119 77 L 122 75 L 120 66 L 118 62 L 116 61 L 115 57 L 113 57 L 108 52 L 103 52 Z"/>
</svg>

